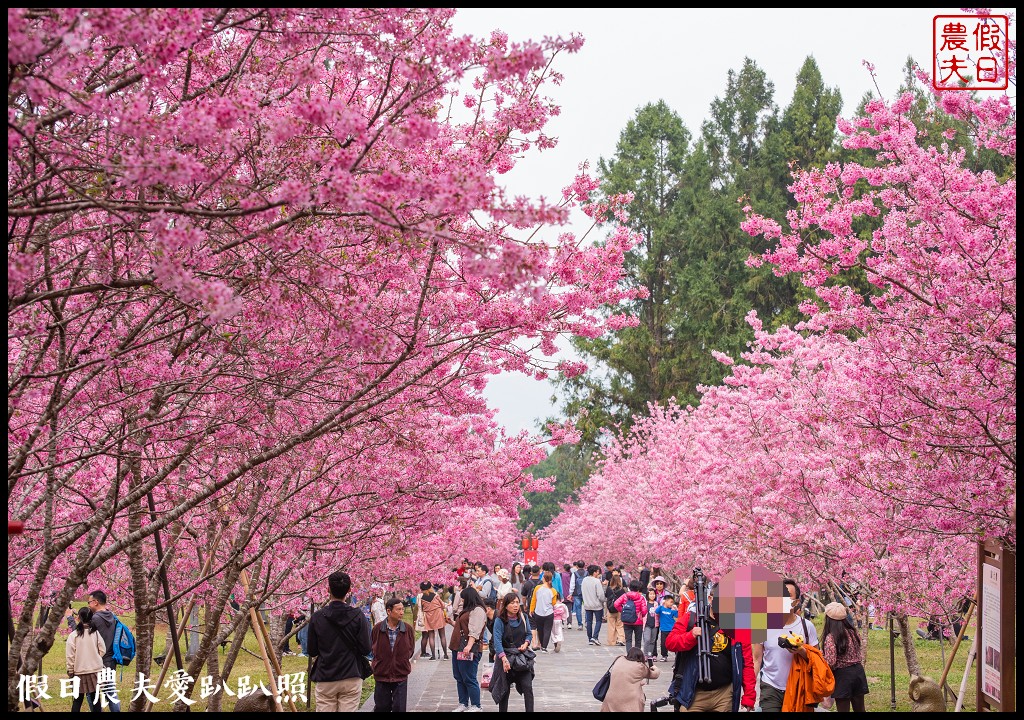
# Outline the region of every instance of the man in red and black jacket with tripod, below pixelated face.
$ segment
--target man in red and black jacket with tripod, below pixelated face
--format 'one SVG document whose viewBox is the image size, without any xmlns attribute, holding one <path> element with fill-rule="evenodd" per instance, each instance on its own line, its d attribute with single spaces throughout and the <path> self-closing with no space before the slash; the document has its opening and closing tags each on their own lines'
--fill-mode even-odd
<svg viewBox="0 0 1024 720">
<path fill-rule="evenodd" d="M 698 681 L 697 638 L 700 628 L 696 624 L 696 605 L 692 602 L 689 611 L 679 618 L 679 622 L 666 638 L 666 646 L 676 652 L 676 665 L 669 694 L 674 704 L 690 712 L 737 712 L 742 705 L 754 709 L 757 687 L 754 684 L 754 659 L 750 644 L 728 637 L 718 628 L 718 616 L 714 602 L 717 586 L 712 589 L 708 624 L 715 633 L 711 643 L 711 678 Z"/>
</svg>

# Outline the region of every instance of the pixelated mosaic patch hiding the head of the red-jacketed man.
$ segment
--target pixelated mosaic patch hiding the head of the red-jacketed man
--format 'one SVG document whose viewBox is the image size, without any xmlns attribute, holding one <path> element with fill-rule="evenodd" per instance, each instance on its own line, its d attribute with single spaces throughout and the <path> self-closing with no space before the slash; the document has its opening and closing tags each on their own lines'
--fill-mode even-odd
<svg viewBox="0 0 1024 720">
<path fill-rule="evenodd" d="M 783 627 L 792 600 L 782 579 L 767 567 L 744 565 L 719 582 L 719 627 L 736 640 L 764 642 L 768 631 Z"/>
</svg>

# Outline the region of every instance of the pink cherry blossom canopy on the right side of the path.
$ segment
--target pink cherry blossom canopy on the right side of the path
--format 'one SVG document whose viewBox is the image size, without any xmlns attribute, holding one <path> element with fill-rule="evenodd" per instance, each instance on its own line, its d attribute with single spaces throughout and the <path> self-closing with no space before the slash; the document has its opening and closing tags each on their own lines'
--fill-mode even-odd
<svg viewBox="0 0 1024 720">
<path fill-rule="evenodd" d="M 1006 98 L 941 100 L 1016 160 Z M 842 122 L 873 162 L 797 173 L 787 227 L 746 209 L 770 243 L 751 263 L 799 274 L 808 320 L 769 333 L 750 316 L 742 362 L 716 353 L 723 384 L 609 438 L 546 547 L 683 573 L 761 563 L 925 617 L 975 591 L 978 541 L 1016 547 L 1016 176 L 922 143 L 910 110 L 874 100 Z"/>
</svg>

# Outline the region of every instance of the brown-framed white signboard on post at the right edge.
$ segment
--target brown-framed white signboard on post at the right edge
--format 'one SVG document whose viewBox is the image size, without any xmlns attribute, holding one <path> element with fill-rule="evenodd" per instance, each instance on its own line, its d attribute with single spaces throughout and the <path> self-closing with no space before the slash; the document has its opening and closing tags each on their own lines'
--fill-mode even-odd
<svg viewBox="0 0 1024 720">
<path fill-rule="evenodd" d="M 996 541 L 978 543 L 978 711 L 1012 713 L 1015 684 L 1017 555 Z"/>
</svg>

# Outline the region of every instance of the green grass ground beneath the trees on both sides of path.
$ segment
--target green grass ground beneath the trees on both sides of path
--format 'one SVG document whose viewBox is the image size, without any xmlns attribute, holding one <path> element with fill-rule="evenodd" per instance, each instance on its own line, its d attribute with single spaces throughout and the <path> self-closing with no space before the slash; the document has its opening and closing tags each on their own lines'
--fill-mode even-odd
<svg viewBox="0 0 1024 720">
<path fill-rule="evenodd" d="M 76 606 L 77 609 L 77 606 Z M 407 621 L 412 623 L 412 616 L 407 613 Z M 132 621 L 134 620 L 131 616 L 123 617 L 123 620 L 131 627 Z M 818 632 L 821 632 L 821 627 L 823 624 L 823 616 L 819 616 L 815 621 L 815 626 Z M 916 627 L 916 621 L 911 621 L 911 629 Z M 968 628 L 967 633 L 974 637 L 975 626 L 972 625 Z M 166 627 L 158 626 L 157 632 L 157 651 L 156 654 L 163 654 L 164 652 L 164 642 L 166 638 Z M 419 633 L 417 633 L 417 638 L 419 638 Z M 295 641 L 292 641 L 293 647 L 295 646 Z M 942 651 L 939 648 L 939 643 L 935 640 L 923 640 L 921 638 L 914 638 L 914 645 L 918 650 L 918 658 L 921 661 L 924 673 L 931 676 L 933 679 L 938 680 L 942 675 L 943 661 Z M 234 664 L 234 668 L 231 671 L 231 689 L 237 689 L 239 678 L 246 675 L 252 678 L 252 682 L 257 684 L 260 680 L 264 683 L 266 680 L 266 671 L 263 669 L 263 661 L 259 655 L 259 647 L 256 644 L 256 637 L 250 631 L 245 640 L 244 647 L 247 651 L 242 651 L 239 654 L 238 661 Z M 945 643 L 945 651 L 948 653 L 951 647 L 951 643 Z M 419 651 L 419 645 L 417 645 L 417 651 Z M 949 685 L 957 690 L 959 688 L 961 678 L 964 676 L 964 666 L 967 662 L 968 654 L 968 643 L 964 643 L 961 649 L 956 653 L 956 659 L 953 662 L 952 670 L 949 673 Z M 67 677 L 65 673 L 65 641 L 63 637 L 59 636 L 57 641 L 54 643 L 53 647 L 43 659 L 43 673 L 48 677 L 49 694 L 53 695 L 52 700 L 44 700 L 43 707 L 48 712 L 68 712 L 71 710 L 71 698 L 60 698 L 60 682 L 59 679 Z M 299 655 L 286 655 L 283 660 L 283 670 L 285 673 L 304 673 L 307 668 L 307 659 L 301 658 Z M 890 712 L 891 706 L 891 690 L 890 690 L 890 672 L 889 672 L 889 633 L 883 630 L 872 630 L 868 635 L 867 642 L 867 663 L 865 666 L 867 672 L 867 681 L 870 687 L 870 692 L 868 693 L 866 701 L 867 710 L 870 712 Z M 134 677 L 137 669 L 134 666 L 129 666 L 128 672 L 124 673 L 123 677 L 119 671 L 119 691 L 120 697 L 123 705 L 127 704 L 127 701 L 132 695 L 132 690 L 134 686 Z M 155 665 L 147 676 L 155 678 L 159 673 L 159 668 Z M 896 711 L 904 712 L 910 710 L 910 701 L 907 697 L 907 687 L 909 685 L 910 678 L 906 672 L 906 663 L 903 661 L 903 649 L 897 640 L 896 644 Z M 152 682 L 152 680 L 151 680 Z M 585 692 L 582 689 L 581 692 Z M 373 693 L 373 678 L 368 679 L 362 684 L 362 698 L 366 700 Z M 172 696 L 170 691 L 166 688 L 158 688 L 156 693 L 161 702 L 158 703 L 154 710 L 155 711 L 170 711 L 172 703 L 170 697 Z M 198 693 L 196 693 L 198 697 Z M 312 701 L 312 697 L 309 698 Z M 311 705 L 311 703 L 310 703 Z M 306 709 L 305 701 L 301 698 L 296 700 L 296 706 L 298 710 L 303 711 Z M 224 711 L 229 711 L 234 707 L 234 697 L 230 695 L 224 696 L 222 701 L 222 709 Z M 952 710 L 953 701 L 949 701 L 949 710 Z M 191 707 L 194 712 L 204 711 L 207 708 L 207 702 L 204 700 L 198 700 L 196 705 Z M 975 681 L 974 681 L 974 669 L 972 668 L 971 677 L 968 681 L 968 689 L 966 693 L 966 702 L 964 709 L 967 711 L 974 711 L 976 709 L 975 704 Z"/>
</svg>

